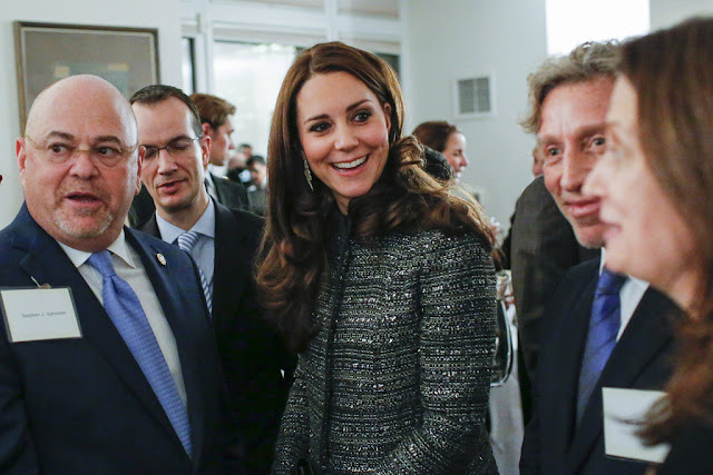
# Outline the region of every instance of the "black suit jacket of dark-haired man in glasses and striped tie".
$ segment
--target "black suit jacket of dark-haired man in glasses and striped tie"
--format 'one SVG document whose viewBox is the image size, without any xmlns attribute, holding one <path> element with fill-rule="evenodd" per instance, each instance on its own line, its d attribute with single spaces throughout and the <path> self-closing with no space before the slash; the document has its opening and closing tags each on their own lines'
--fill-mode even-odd
<svg viewBox="0 0 713 475">
<path fill-rule="evenodd" d="M 270 471 L 294 367 L 255 300 L 252 270 L 262 226 L 251 212 L 216 204 L 213 327 L 250 473 Z M 155 215 L 141 230 L 160 237 Z"/>
</svg>

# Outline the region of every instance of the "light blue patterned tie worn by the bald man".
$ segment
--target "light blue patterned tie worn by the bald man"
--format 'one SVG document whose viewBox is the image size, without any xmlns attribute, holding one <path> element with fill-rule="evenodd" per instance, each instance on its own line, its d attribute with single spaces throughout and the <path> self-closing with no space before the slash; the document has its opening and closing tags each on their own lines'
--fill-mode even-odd
<svg viewBox="0 0 713 475">
<path fill-rule="evenodd" d="M 186 453 L 192 456 L 188 412 L 178 395 L 176 383 L 148 324 L 141 303 L 126 280 L 116 275 L 108 250 L 92 254 L 88 263 L 101 274 L 101 298 L 105 310 L 154 389 Z"/>
</svg>

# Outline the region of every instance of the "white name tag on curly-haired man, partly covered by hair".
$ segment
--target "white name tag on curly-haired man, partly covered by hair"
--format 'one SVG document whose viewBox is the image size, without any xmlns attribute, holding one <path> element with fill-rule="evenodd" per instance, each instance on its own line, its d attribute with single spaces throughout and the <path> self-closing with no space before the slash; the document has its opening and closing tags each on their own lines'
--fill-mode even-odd
<svg viewBox="0 0 713 475">
<path fill-rule="evenodd" d="M 646 413 L 666 393 L 661 390 L 602 388 L 604 398 L 604 452 L 606 455 L 634 461 L 662 463 L 671 446 L 647 446 L 636 435 L 641 425 L 632 422 L 646 419 Z"/>
</svg>

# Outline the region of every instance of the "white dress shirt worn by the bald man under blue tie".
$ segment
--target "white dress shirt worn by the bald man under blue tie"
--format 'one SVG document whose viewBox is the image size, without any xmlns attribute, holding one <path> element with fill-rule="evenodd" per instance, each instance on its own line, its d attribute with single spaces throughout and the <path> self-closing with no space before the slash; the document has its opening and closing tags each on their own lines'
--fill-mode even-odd
<svg viewBox="0 0 713 475">
<path fill-rule="evenodd" d="M 58 241 L 59 243 L 59 241 Z M 59 243 L 65 250 L 69 259 L 79 270 L 81 277 L 85 278 L 89 288 L 94 295 L 99 299 L 99 303 L 104 305 L 104 297 L 101 290 L 104 287 L 104 279 L 101 274 L 95 269 L 87 259 L 91 256 L 91 253 L 85 253 L 84 250 L 74 249 L 69 246 Z M 156 297 L 154 286 L 146 275 L 146 269 L 141 263 L 139 255 L 127 245 L 124 236 L 124 230 L 119 237 L 108 247 L 111 255 L 111 264 L 117 276 L 121 277 L 131 287 L 138 300 L 144 308 L 148 324 L 154 331 L 158 347 L 164 354 L 164 359 L 168 365 L 170 375 L 176 383 L 178 395 L 184 404 L 186 404 L 186 386 L 183 382 L 183 372 L 180 369 L 180 359 L 178 357 L 178 348 L 176 346 L 176 338 L 166 320 L 164 309 Z"/>
</svg>

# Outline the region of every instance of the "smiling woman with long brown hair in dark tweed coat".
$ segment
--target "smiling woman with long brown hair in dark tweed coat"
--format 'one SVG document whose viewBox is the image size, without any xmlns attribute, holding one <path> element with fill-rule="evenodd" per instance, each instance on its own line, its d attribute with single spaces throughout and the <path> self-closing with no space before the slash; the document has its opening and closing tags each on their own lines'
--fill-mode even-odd
<svg viewBox="0 0 713 475">
<path fill-rule="evenodd" d="M 391 68 L 303 51 L 270 136 L 261 299 L 300 352 L 274 473 L 496 473 L 492 236 L 401 138 Z"/>
</svg>

